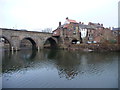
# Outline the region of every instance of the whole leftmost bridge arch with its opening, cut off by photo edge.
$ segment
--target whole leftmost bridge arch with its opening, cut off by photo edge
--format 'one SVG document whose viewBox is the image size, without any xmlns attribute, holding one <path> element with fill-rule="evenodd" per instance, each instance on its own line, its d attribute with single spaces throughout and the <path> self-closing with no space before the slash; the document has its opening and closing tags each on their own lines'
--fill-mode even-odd
<svg viewBox="0 0 120 90">
<path fill-rule="evenodd" d="M 11 42 L 5 36 L 0 36 L 0 47 L 4 47 L 4 49 L 11 50 Z"/>
</svg>

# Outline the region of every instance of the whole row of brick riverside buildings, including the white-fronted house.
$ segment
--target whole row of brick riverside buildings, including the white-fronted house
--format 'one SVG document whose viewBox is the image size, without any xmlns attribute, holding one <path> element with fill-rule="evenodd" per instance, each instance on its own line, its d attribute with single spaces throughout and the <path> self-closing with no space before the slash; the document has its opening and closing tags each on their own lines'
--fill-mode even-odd
<svg viewBox="0 0 120 90">
<path fill-rule="evenodd" d="M 104 28 L 103 24 L 89 22 L 88 25 L 66 18 L 63 25 L 53 31 L 53 37 L 58 39 L 60 44 L 80 44 L 80 43 L 104 43 L 113 40 L 113 33 L 109 28 Z"/>
</svg>

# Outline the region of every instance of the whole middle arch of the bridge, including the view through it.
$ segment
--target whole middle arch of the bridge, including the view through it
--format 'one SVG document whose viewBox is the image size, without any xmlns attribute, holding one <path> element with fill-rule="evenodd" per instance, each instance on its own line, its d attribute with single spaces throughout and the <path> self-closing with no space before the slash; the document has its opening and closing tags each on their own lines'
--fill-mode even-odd
<svg viewBox="0 0 120 90">
<path fill-rule="evenodd" d="M 20 49 L 37 49 L 37 43 L 31 37 L 24 37 L 20 40 Z"/>
</svg>

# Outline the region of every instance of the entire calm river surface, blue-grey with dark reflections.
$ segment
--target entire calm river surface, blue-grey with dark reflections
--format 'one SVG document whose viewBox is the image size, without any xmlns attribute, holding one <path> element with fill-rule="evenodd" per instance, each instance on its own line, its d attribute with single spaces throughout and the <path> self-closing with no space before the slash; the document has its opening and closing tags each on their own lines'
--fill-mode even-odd
<svg viewBox="0 0 120 90">
<path fill-rule="evenodd" d="M 118 52 L 2 51 L 2 88 L 118 88 Z"/>
</svg>

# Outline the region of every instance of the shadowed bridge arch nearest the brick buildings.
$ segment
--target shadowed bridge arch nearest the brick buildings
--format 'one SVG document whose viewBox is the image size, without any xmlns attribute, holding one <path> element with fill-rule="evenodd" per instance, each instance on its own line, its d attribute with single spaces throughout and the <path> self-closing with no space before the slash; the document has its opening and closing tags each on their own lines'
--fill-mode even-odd
<svg viewBox="0 0 120 90">
<path fill-rule="evenodd" d="M 49 37 L 45 40 L 44 48 L 57 48 L 58 42 L 56 38 Z"/>
</svg>

